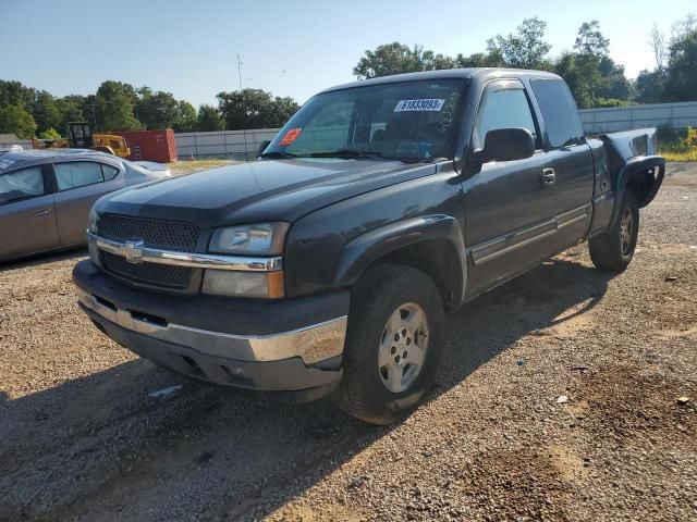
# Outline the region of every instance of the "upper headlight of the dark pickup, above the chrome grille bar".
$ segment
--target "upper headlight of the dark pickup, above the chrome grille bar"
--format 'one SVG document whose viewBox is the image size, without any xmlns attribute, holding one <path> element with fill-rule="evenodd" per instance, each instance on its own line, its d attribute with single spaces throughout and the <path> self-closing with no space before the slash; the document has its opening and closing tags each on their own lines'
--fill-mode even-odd
<svg viewBox="0 0 697 522">
<path fill-rule="evenodd" d="M 288 223 L 262 223 L 218 228 L 210 238 L 208 250 L 243 256 L 280 254 L 288 226 Z"/>
</svg>

